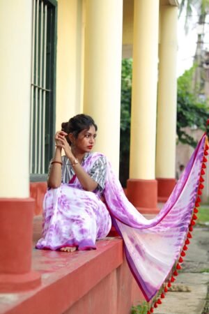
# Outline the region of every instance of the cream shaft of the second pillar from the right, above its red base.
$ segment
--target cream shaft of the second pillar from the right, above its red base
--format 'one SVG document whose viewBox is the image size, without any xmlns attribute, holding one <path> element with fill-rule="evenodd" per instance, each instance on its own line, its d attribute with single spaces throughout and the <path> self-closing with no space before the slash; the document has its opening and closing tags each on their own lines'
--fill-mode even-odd
<svg viewBox="0 0 209 314">
<path fill-rule="evenodd" d="M 130 179 L 155 179 L 158 0 L 134 1 Z"/>
</svg>

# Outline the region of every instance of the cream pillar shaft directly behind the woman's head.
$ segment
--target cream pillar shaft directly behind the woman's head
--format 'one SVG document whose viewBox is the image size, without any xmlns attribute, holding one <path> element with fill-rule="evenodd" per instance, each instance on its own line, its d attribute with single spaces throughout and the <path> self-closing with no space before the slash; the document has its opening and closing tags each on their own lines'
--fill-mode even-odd
<svg viewBox="0 0 209 314">
<path fill-rule="evenodd" d="M 122 0 L 86 1 L 84 113 L 98 124 L 96 151 L 119 167 Z"/>
</svg>

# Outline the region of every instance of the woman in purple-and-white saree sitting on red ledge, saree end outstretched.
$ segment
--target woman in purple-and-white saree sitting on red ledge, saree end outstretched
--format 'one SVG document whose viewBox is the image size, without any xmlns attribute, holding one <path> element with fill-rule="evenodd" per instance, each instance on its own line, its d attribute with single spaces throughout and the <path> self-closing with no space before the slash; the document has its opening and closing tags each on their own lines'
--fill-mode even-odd
<svg viewBox="0 0 209 314">
<path fill-rule="evenodd" d="M 147 220 L 125 197 L 106 158 L 91 153 L 96 130 L 91 117 L 78 114 L 56 133 L 56 151 L 44 200 L 43 233 L 36 248 L 68 252 L 95 248 L 96 239 L 107 236 L 112 221 L 123 239 L 132 274 L 146 301 L 150 301 L 167 281 L 171 285 L 175 267 L 180 269 L 178 262 L 183 261 L 192 237 L 208 137 L 204 134 L 201 138 L 160 213 Z"/>
</svg>

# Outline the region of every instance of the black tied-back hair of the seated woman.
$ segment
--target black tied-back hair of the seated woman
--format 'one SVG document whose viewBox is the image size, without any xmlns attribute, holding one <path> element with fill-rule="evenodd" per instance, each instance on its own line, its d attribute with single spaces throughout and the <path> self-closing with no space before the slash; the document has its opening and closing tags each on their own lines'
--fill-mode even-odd
<svg viewBox="0 0 209 314">
<path fill-rule="evenodd" d="M 91 126 L 95 127 L 95 130 L 98 130 L 98 126 L 95 124 L 95 121 L 88 116 L 87 114 L 77 114 L 75 117 L 70 118 L 68 122 L 63 122 L 61 128 L 66 133 L 72 133 L 75 138 L 79 135 L 82 130 L 89 130 Z M 68 142 L 70 140 L 67 138 Z"/>
</svg>

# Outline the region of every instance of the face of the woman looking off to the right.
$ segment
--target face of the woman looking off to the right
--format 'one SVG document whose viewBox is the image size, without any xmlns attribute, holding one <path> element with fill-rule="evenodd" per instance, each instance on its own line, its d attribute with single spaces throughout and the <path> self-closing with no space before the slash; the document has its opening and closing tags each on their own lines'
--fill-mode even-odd
<svg viewBox="0 0 209 314">
<path fill-rule="evenodd" d="M 88 130 L 82 130 L 77 138 L 74 137 L 72 144 L 80 153 L 86 153 L 93 149 L 95 145 L 96 131 L 94 126 L 90 126 Z"/>
</svg>

